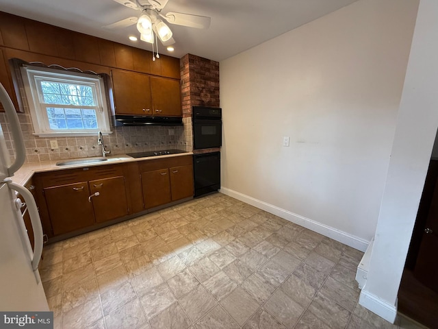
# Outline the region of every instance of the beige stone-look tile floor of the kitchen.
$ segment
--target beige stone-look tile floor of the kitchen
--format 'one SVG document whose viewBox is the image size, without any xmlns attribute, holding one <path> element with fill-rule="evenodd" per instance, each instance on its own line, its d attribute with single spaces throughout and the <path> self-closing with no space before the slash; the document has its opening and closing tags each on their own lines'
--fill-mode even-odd
<svg viewBox="0 0 438 329">
<path fill-rule="evenodd" d="M 362 252 L 220 193 L 48 245 L 55 328 L 420 328 L 357 304 Z"/>
</svg>

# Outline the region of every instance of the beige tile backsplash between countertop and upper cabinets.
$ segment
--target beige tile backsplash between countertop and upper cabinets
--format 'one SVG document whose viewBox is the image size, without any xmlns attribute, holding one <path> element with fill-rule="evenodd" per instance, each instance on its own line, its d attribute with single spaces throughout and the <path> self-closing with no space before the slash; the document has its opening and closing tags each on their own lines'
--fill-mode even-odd
<svg viewBox="0 0 438 329">
<path fill-rule="evenodd" d="M 61 160 L 101 156 L 102 147 L 97 145 L 96 136 L 85 137 L 38 137 L 28 114 L 18 113 L 25 139 L 27 162 Z M 0 123 L 10 155 L 14 156 L 10 125 L 4 113 L 0 113 Z M 192 151 L 191 118 L 183 118 L 181 127 L 112 127 L 112 134 L 104 135 L 103 141 L 112 155 L 161 149 L 183 149 Z M 51 149 L 50 141 L 57 141 L 58 149 Z"/>
</svg>

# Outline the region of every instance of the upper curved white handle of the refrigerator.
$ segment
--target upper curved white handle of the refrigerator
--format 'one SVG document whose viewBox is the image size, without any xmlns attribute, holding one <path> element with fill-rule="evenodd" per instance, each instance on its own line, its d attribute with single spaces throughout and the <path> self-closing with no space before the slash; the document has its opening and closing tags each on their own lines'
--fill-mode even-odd
<svg viewBox="0 0 438 329">
<path fill-rule="evenodd" d="M 8 175 L 12 176 L 21 168 L 26 160 L 26 148 L 23 134 L 21 133 L 20 121 L 18 121 L 18 115 L 16 114 L 14 104 L 2 84 L 0 84 L 0 102 L 5 110 L 6 117 L 8 117 L 10 134 L 12 135 L 15 147 L 15 160 L 8 168 Z"/>
</svg>

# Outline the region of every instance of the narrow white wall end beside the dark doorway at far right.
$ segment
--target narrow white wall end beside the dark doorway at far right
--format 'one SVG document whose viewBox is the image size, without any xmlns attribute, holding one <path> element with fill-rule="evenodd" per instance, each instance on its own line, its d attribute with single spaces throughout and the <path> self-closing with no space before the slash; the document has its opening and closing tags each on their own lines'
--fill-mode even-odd
<svg viewBox="0 0 438 329">
<path fill-rule="evenodd" d="M 359 302 L 393 321 L 438 127 L 438 1 L 421 0 L 368 280 Z"/>
</svg>

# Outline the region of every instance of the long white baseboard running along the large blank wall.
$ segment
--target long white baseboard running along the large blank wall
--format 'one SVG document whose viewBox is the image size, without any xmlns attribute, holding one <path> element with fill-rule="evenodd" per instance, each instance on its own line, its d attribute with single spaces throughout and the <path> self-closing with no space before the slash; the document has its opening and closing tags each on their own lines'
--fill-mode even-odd
<svg viewBox="0 0 438 329">
<path fill-rule="evenodd" d="M 290 212 L 289 210 L 273 206 L 272 204 L 268 204 L 266 202 L 260 201 L 259 199 L 249 197 L 248 195 L 233 191 L 229 188 L 220 188 L 220 193 L 229 195 L 230 197 L 234 197 L 235 199 L 245 202 L 246 204 L 250 204 L 251 206 L 255 206 L 259 209 L 270 212 L 271 214 L 284 218 L 287 221 L 292 221 L 292 223 L 296 223 L 304 228 L 308 228 L 309 230 L 312 230 L 324 236 L 328 236 L 333 240 L 339 241 L 341 243 L 349 245 L 350 247 L 361 250 L 361 252 L 365 252 L 368 247 L 369 241 L 361 239 L 358 236 L 354 236 L 341 230 L 337 230 L 336 228 L 332 228 L 331 226 L 326 226 L 322 223 L 319 223 L 318 221 L 313 221 L 312 219 L 296 215 L 294 214 L 294 212 Z"/>
</svg>

